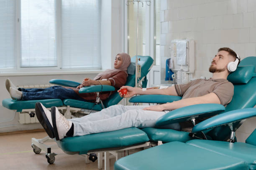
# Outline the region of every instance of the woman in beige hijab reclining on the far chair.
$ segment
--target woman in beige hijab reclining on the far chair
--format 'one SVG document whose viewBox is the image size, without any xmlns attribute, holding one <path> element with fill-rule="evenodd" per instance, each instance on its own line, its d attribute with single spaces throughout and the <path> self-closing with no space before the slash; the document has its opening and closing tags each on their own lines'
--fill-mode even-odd
<svg viewBox="0 0 256 170">
<path fill-rule="evenodd" d="M 114 69 L 105 70 L 104 72 L 99 73 L 94 80 L 85 78 L 82 84 L 77 86 L 77 88 L 61 87 L 56 85 L 45 89 L 17 89 L 9 79 L 6 80 L 5 85 L 12 99 L 16 100 L 42 100 L 56 98 L 63 100 L 68 98 L 94 102 L 97 96 L 96 93 L 79 93 L 79 89 L 90 85 L 112 85 L 115 87 L 115 90 L 118 90 L 126 82 L 128 76 L 127 67 L 130 64 L 130 55 L 120 53 L 115 57 Z M 111 92 L 101 92 L 100 99 L 105 100 L 110 94 Z"/>
</svg>

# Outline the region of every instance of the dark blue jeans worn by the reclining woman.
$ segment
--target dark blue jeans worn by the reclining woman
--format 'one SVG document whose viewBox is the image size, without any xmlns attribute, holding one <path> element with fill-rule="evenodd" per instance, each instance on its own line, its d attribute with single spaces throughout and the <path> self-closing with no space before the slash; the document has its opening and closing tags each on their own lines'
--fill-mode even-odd
<svg viewBox="0 0 256 170">
<path fill-rule="evenodd" d="M 58 85 L 48 87 L 45 89 L 40 88 L 19 88 L 22 91 L 21 100 L 42 100 L 42 99 L 74 99 L 74 100 L 84 100 L 82 97 L 77 95 L 72 89 L 64 88 Z"/>
</svg>

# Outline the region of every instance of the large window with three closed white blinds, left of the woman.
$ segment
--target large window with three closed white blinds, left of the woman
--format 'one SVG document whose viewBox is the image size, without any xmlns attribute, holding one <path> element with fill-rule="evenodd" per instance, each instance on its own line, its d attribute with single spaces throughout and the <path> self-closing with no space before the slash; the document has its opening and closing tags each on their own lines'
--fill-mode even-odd
<svg viewBox="0 0 256 170">
<path fill-rule="evenodd" d="M 100 69 L 100 16 L 101 0 L 0 0 L 0 68 Z"/>
</svg>

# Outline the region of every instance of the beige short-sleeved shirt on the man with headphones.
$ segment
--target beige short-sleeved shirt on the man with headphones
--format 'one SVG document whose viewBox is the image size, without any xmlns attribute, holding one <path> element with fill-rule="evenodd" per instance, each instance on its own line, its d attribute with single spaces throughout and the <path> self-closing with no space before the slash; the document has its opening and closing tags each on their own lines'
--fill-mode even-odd
<svg viewBox="0 0 256 170">
<path fill-rule="evenodd" d="M 232 100 L 234 86 L 226 79 L 197 79 L 186 84 L 175 85 L 175 90 L 182 99 L 200 97 L 214 92 L 225 107 Z"/>
</svg>

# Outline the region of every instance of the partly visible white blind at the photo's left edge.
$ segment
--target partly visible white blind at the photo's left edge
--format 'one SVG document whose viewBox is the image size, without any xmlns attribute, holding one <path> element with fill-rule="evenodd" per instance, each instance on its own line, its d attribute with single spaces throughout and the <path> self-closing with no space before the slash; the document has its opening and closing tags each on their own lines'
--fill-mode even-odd
<svg viewBox="0 0 256 170">
<path fill-rule="evenodd" d="M 0 68 L 15 66 L 15 0 L 0 0 Z"/>
</svg>

